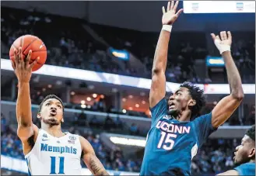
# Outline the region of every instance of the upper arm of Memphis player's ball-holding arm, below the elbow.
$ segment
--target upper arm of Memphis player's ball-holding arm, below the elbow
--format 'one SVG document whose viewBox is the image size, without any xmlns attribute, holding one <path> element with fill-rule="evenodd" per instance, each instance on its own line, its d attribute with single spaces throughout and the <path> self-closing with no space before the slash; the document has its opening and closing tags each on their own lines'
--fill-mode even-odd
<svg viewBox="0 0 256 176">
<path fill-rule="evenodd" d="M 23 142 L 26 142 L 31 136 L 34 136 L 34 141 L 38 136 L 38 127 L 34 124 L 32 126 L 20 126 L 18 125 L 17 135 L 19 139 Z"/>
</svg>

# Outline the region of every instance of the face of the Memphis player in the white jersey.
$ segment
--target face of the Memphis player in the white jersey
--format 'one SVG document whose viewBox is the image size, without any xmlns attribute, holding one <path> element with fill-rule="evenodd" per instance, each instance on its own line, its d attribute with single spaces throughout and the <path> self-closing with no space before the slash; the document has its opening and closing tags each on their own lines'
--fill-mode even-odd
<svg viewBox="0 0 256 176">
<path fill-rule="evenodd" d="M 63 107 L 58 99 L 50 98 L 44 102 L 40 111 L 40 118 L 44 123 L 52 126 L 59 125 L 63 119 Z"/>
</svg>

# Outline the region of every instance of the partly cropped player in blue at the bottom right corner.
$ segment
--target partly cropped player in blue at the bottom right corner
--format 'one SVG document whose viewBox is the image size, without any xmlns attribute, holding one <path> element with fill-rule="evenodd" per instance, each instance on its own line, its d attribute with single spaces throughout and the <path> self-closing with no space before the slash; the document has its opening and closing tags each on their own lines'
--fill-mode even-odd
<svg viewBox="0 0 256 176">
<path fill-rule="evenodd" d="M 255 175 L 255 125 L 245 133 L 240 146 L 237 146 L 234 164 L 237 167 L 218 175 Z"/>
</svg>

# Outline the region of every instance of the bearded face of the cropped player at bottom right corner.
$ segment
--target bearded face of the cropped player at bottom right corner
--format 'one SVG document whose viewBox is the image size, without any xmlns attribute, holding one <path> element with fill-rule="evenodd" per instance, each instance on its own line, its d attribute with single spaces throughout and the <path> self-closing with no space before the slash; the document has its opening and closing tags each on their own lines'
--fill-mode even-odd
<svg viewBox="0 0 256 176">
<path fill-rule="evenodd" d="M 255 156 L 255 142 L 247 135 L 244 135 L 240 146 L 237 146 L 235 151 L 234 163 L 244 164 Z"/>
</svg>

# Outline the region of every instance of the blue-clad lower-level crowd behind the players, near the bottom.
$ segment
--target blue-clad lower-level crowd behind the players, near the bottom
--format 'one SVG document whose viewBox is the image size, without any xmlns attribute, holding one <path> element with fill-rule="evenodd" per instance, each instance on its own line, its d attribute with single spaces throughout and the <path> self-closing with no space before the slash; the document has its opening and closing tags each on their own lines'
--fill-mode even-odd
<svg viewBox="0 0 256 176">
<path fill-rule="evenodd" d="M 16 157 L 24 160 L 22 143 L 16 135 L 16 131 L 9 127 L 6 123 L 5 116 L 1 116 L 1 154 L 9 157 Z M 107 129 L 106 129 L 107 130 Z M 99 133 L 93 132 L 91 129 L 79 130 L 78 127 L 70 127 L 68 132 L 84 136 L 91 143 L 96 152 L 96 156 L 103 163 L 107 170 L 114 171 L 134 171 L 139 172 L 142 164 L 142 158 L 131 159 L 126 158 L 122 154 L 120 147 L 109 149 L 104 147 L 100 141 Z M 131 134 L 134 134 L 135 128 Z M 237 139 L 209 139 L 203 145 L 202 149 L 194 157 L 191 163 L 191 174 L 204 175 L 216 174 L 221 171 L 229 170 L 234 166 L 233 152 L 235 147 L 240 143 Z M 85 164 L 81 162 L 83 167 Z"/>
</svg>

